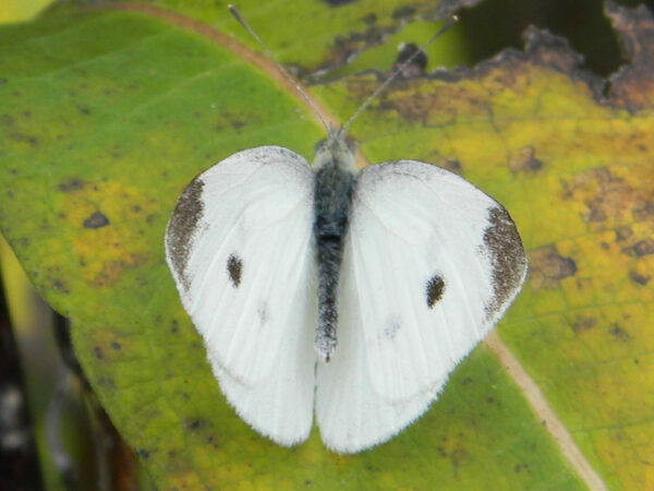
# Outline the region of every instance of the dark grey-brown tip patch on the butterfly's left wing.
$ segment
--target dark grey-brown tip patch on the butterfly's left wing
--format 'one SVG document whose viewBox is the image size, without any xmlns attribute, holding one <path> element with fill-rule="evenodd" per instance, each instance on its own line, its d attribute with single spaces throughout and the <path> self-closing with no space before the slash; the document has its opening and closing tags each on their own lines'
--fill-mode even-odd
<svg viewBox="0 0 654 491">
<path fill-rule="evenodd" d="M 197 223 L 204 213 L 201 199 L 203 188 L 204 182 L 198 177 L 191 181 L 178 200 L 166 231 L 168 256 L 186 289 L 189 288 L 189 280 L 184 271 L 189 262 L 189 253 L 191 252 L 191 243 Z"/>
</svg>

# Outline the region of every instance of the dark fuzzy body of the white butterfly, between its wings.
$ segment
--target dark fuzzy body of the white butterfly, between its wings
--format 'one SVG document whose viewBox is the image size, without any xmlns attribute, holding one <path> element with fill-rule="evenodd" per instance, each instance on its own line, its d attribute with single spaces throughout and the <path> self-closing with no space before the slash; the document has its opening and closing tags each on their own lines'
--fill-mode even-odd
<svg viewBox="0 0 654 491">
<path fill-rule="evenodd" d="M 329 361 L 336 348 L 338 285 L 355 182 L 353 148 L 332 133 L 316 146 L 313 233 L 318 267 L 318 323 L 315 346 Z"/>
</svg>

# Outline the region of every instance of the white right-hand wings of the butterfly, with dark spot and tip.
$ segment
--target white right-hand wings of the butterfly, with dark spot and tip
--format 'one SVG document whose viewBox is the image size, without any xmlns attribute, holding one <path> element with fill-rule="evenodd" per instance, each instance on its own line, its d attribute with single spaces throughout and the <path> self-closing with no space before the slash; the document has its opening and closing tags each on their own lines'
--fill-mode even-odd
<svg viewBox="0 0 654 491">
<path fill-rule="evenodd" d="M 337 352 L 358 358 L 320 367 L 316 411 L 326 443 L 356 452 L 427 408 L 520 290 L 526 259 L 501 205 L 460 177 L 413 160 L 362 171 L 349 227 Z M 356 330 L 360 338 L 350 332 Z M 361 407 L 375 410 L 354 424 Z M 352 438 L 358 424 L 370 428 Z"/>
</svg>

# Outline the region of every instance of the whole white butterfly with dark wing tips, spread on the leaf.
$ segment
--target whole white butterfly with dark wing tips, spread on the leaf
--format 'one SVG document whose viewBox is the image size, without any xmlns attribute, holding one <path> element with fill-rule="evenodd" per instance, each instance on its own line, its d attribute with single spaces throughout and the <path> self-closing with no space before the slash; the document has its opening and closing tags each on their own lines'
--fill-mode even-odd
<svg viewBox="0 0 654 491">
<path fill-rule="evenodd" d="M 313 166 L 280 146 L 216 164 L 166 231 L 223 394 L 280 445 L 308 438 L 314 408 L 332 451 L 389 440 L 437 398 L 526 275 L 499 203 L 422 161 L 356 170 L 352 119 L 328 130 Z"/>
</svg>

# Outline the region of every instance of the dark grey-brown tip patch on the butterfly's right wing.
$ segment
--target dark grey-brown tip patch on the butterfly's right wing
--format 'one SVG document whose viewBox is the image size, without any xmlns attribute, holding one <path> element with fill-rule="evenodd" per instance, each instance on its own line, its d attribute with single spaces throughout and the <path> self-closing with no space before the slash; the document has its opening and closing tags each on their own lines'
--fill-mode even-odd
<svg viewBox="0 0 654 491">
<path fill-rule="evenodd" d="M 489 209 L 488 223 L 484 246 L 493 268 L 493 298 L 486 306 L 486 316 L 491 318 L 520 288 L 526 272 L 526 256 L 516 224 L 502 206 Z"/>
</svg>

